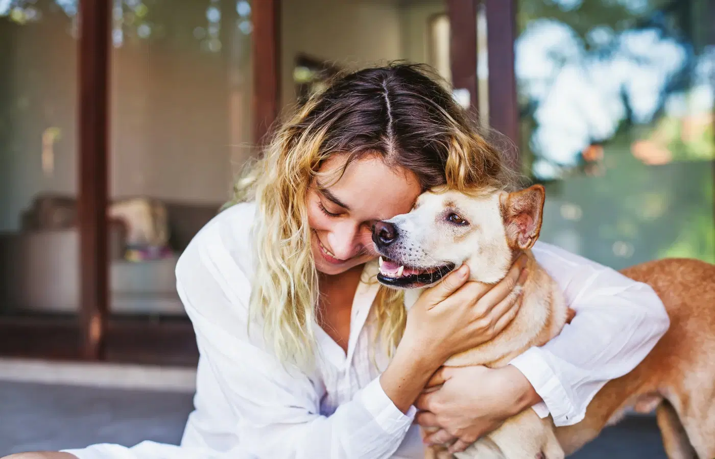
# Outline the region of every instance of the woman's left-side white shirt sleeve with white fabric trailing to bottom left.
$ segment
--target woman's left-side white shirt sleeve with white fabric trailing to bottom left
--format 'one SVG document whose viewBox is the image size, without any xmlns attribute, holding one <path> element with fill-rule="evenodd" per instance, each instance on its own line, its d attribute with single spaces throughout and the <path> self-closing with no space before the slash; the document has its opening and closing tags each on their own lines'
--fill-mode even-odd
<svg viewBox="0 0 715 459">
<path fill-rule="evenodd" d="M 239 266 L 222 237 L 227 236 L 220 228 L 204 228 L 176 270 L 177 291 L 201 354 L 192 413 L 200 421 L 184 433 L 180 448 L 145 443 L 68 452 L 79 459 L 390 457 L 412 425 L 415 408 L 403 414 L 376 378 L 334 413 L 322 415 L 320 378 L 277 360 L 257 338 L 262 327 L 249 328 L 247 268 Z M 233 440 L 221 443 L 222 435 Z"/>
</svg>

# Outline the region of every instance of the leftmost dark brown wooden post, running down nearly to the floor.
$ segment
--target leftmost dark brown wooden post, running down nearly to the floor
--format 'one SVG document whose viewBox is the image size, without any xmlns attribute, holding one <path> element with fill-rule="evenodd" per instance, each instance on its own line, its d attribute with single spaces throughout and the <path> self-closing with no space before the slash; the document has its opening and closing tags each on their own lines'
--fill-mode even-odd
<svg viewBox="0 0 715 459">
<path fill-rule="evenodd" d="M 110 0 L 79 1 L 79 263 L 82 357 L 103 358 L 109 303 Z"/>
</svg>

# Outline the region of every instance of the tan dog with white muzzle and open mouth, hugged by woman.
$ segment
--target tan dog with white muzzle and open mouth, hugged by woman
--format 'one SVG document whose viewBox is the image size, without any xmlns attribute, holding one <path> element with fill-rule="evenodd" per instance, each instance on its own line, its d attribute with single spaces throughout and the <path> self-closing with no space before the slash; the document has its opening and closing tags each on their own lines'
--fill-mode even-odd
<svg viewBox="0 0 715 459">
<path fill-rule="evenodd" d="M 558 335 L 566 323 L 563 293 L 531 255 L 541 229 L 542 186 L 516 193 L 489 190 L 477 196 L 446 191 L 424 193 L 408 214 L 375 226 L 380 260 L 378 280 L 405 288 L 405 306 L 420 291 L 462 263 L 473 281 L 493 284 L 506 276 L 519 253 L 528 256 L 528 279 L 519 312 L 492 341 L 459 353 L 445 365 L 495 368 L 533 345 Z M 471 445 L 465 458 L 561 459 L 581 448 L 633 406 L 657 408 L 666 452 L 674 458 L 715 458 L 715 266 L 693 260 L 645 263 L 625 271 L 649 283 L 664 301 L 671 328 L 649 356 L 628 375 L 606 384 L 576 425 L 554 428 L 526 410 Z M 430 448 L 428 458 L 450 457 Z"/>
</svg>

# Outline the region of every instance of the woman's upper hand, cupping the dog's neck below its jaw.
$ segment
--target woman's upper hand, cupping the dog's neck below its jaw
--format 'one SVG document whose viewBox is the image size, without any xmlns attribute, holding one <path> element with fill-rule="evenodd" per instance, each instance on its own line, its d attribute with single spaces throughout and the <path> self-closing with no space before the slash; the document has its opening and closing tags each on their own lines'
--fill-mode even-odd
<svg viewBox="0 0 715 459">
<path fill-rule="evenodd" d="M 516 316 L 526 259 L 520 256 L 495 286 L 466 281 L 465 265 L 450 273 L 410 308 L 400 347 L 430 356 L 436 369 L 451 355 L 494 338 Z"/>
</svg>

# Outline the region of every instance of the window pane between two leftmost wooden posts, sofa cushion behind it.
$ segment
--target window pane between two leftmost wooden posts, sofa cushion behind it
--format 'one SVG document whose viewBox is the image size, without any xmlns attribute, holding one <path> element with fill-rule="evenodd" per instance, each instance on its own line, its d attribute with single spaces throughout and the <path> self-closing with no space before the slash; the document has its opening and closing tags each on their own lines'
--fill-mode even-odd
<svg viewBox="0 0 715 459">
<path fill-rule="evenodd" d="M 250 147 L 251 6 L 114 0 L 110 309 L 181 316 L 174 267 Z"/>
</svg>

